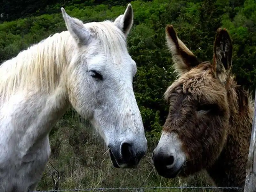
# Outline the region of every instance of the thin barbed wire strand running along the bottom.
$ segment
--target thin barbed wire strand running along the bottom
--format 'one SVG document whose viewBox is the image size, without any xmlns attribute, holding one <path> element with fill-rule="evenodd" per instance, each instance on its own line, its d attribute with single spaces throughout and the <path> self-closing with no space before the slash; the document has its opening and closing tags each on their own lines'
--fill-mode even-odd
<svg viewBox="0 0 256 192">
<path fill-rule="evenodd" d="M 152 190 L 152 189 L 244 189 L 242 187 L 131 187 L 131 188 L 84 188 L 84 189 L 60 189 L 33 192 L 61 192 L 61 191 L 110 191 L 110 190 Z"/>
</svg>

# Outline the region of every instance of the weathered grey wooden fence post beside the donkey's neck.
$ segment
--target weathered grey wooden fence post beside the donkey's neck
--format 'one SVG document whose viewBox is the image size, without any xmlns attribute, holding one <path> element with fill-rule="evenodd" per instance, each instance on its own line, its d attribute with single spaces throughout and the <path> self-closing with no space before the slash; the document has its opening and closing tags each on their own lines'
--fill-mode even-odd
<svg viewBox="0 0 256 192">
<path fill-rule="evenodd" d="M 256 90 L 254 98 L 254 117 L 252 122 L 252 135 L 246 168 L 244 192 L 256 192 Z"/>
</svg>

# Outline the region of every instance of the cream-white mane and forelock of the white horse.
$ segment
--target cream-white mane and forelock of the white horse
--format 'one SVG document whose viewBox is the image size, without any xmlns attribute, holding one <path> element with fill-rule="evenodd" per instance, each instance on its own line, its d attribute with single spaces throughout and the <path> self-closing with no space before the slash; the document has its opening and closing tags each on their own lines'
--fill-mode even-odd
<svg viewBox="0 0 256 192">
<path fill-rule="evenodd" d="M 124 33 L 114 23 L 91 22 L 84 26 L 88 27 L 100 41 L 100 46 L 107 56 L 116 59 L 127 52 Z M 0 66 L 1 99 L 10 97 L 17 89 L 35 90 L 35 87 L 38 87 L 48 92 L 54 90 L 63 70 L 68 64 L 72 65 L 72 61 L 74 64 L 79 57 L 79 53 L 74 54 L 75 46 L 70 33 L 63 31 L 49 36 L 21 51 L 16 57 L 4 61 Z M 77 58 L 74 59 L 74 57 Z"/>
</svg>

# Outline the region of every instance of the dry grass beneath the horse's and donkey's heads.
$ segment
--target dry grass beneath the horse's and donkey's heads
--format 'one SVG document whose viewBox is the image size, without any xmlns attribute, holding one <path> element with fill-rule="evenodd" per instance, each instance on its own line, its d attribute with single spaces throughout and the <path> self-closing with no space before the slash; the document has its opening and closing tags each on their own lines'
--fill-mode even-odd
<svg viewBox="0 0 256 192">
<path fill-rule="evenodd" d="M 58 172 L 59 189 L 211 186 L 204 174 L 188 179 L 160 177 L 151 162 L 152 151 L 157 145 L 158 138 L 148 138 L 148 153 L 141 160 L 138 169 L 123 170 L 112 166 L 103 140 L 76 113 L 69 118 L 61 119 L 53 130 L 55 131 L 50 136 L 52 154 L 37 190 L 54 189 L 53 180 L 58 181 Z M 147 191 L 187 192 L 192 189 Z"/>
</svg>

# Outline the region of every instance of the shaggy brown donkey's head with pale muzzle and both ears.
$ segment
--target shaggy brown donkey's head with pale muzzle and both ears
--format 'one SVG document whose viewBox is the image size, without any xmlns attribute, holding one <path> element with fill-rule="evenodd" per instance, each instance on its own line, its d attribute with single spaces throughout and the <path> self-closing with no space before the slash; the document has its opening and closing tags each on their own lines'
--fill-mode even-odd
<svg viewBox="0 0 256 192">
<path fill-rule="evenodd" d="M 224 146 L 232 44 L 228 32 L 219 28 L 211 63 L 199 62 L 172 25 L 166 27 L 166 40 L 179 78 L 164 93 L 169 114 L 152 159 L 161 176 L 174 178 L 207 168 Z"/>
</svg>

